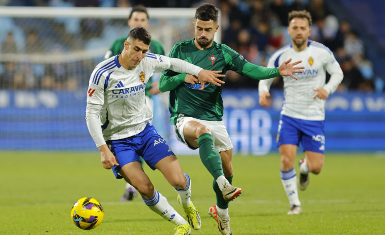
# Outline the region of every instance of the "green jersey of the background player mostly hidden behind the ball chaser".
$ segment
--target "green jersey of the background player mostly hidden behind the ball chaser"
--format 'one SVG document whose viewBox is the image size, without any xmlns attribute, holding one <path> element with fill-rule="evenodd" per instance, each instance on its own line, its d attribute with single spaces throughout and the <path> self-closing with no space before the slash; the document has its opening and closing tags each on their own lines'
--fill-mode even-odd
<svg viewBox="0 0 385 235">
<path fill-rule="evenodd" d="M 121 53 L 123 51 L 123 48 L 124 48 L 124 41 L 126 41 L 127 37 L 123 37 L 123 38 L 120 38 L 120 39 L 116 39 L 112 45 L 110 46 L 108 52 L 106 53 L 105 55 L 105 59 L 108 59 L 112 56 L 115 56 L 119 53 Z M 154 40 L 152 39 L 151 40 L 151 44 L 150 44 L 150 52 L 154 53 L 154 54 L 159 54 L 159 55 L 164 55 L 164 48 L 163 48 L 163 45 L 161 42 L 157 41 L 157 40 Z M 152 77 L 150 78 L 148 84 L 151 84 L 152 83 Z M 145 95 L 147 96 L 151 96 L 150 94 L 150 89 L 151 89 L 151 86 L 146 86 L 145 88 Z"/>
</svg>

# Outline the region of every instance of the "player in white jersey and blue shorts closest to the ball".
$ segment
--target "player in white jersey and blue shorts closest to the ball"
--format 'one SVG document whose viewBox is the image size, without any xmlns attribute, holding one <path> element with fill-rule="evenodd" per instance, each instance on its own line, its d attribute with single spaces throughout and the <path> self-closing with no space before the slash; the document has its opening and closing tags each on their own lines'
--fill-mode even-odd
<svg viewBox="0 0 385 235">
<path fill-rule="evenodd" d="M 150 34 L 143 27 L 136 27 L 130 31 L 121 54 L 96 66 L 88 86 L 85 119 L 100 150 L 103 167 L 112 168 L 117 179 L 124 178 L 133 185 L 151 210 L 176 226 L 176 235 L 190 234 L 190 225 L 155 190 L 140 163 L 142 156 L 153 170 L 162 172 L 181 197 L 189 221 L 196 220 L 199 227 L 194 228 L 199 229 L 200 218 L 190 200 L 190 179 L 149 123 L 153 114 L 145 103 L 144 89 L 155 72 L 165 69 L 189 73 L 216 85 L 220 84 L 215 82 L 215 76 L 224 75 L 180 59 L 147 53 L 150 44 Z M 197 78 L 191 82 L 195 84 Z"/>
</svg>

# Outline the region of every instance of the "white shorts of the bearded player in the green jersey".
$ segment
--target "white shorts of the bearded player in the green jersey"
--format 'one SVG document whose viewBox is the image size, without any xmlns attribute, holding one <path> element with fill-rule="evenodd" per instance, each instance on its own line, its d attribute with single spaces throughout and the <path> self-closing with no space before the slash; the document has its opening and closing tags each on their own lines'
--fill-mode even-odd
<svg viewBox="0 0 385 235">
<path fill-rule="evenodd" d="M 232 143 L 223 121 L 205 121 L 193 117 L 179 117 L 177 118 L 176 124 L 174 124 L 174 135 L 176 139 L 187 145 L 190 149 L 194 150 L 196 148 L 187 144 L 185 136 L 183 135 L 183 128 L 189 121 L 199 122 L 209 128 L 213 136 L 214 148 L 216 148 L 218 152 L 232 149 Z"/>
</svg>

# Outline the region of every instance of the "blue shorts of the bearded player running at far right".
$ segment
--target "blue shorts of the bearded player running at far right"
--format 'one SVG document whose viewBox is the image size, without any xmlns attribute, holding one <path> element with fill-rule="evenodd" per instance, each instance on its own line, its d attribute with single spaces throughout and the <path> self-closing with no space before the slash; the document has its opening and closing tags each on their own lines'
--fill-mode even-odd
<svg viewBox="0 0 385 235">
<path fill-rule="evenodd" d="M 325 153 L 325 121 L 309 121 L 281 115 L 277 144 L 301 146 L 303 151 Z"/>
</svg>

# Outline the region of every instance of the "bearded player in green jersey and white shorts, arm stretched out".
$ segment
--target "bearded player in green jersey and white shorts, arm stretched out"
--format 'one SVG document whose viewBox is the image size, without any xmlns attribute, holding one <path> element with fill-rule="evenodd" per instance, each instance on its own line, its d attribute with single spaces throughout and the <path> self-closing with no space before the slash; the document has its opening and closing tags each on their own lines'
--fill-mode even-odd
<svg viewBox="0 0 385 235">
<path fill-rule="evenodd" d="M 195 38 L 180 42 L 172 48 L 169 57 L 184 59 L 206 70 L 228 70 L 247 75 L 253 79 L 268 79 L 284 75 L 297 79 L 292 74 L 301 73 L 304 67 L 294 67 L 302 61 L 283 62 L 279 68 L 269 69 L 247 62 L 242 55 L 224 44 L 214 41 L 218 30 L 218 9 L 212 4 L 201 5 L 194 18 Z M 195 79 L 195 85 L 188 81 Z M 231 234 L 228 202 L 240 195 L 240 188 L 232 187 L 232 144 L 222 121 L 222 86 L 205 84 L 188 74 L 164 71 L 159 88 L 170 90 L 169 111 L 175 136 L 190 149 L 199 148 L 200 158 L 214 177 L 213 188 L 217 205 L 210 207 L 209 214 L 217 221 L 222 234 Z M 204 88 L 204 89 L 203 89 Z M 231 186 L 231 190 L 226 190 Z M 227 195 L 229 194 L 229 195 Z"/>
</svg>

